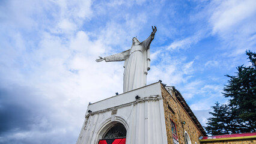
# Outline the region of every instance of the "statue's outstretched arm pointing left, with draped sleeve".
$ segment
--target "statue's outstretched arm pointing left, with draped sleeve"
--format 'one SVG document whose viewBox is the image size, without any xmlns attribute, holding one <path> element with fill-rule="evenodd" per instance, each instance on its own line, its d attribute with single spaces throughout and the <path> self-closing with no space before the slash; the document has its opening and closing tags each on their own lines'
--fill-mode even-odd
<svg viewBox="0 0 256 144">
<path fill-rule="evenodd" d="M 99 59 L 96 59 L 96 62 L 101 62 L 105 60 L 106 62 L 111 62 L 111 61 L 125 61 L 130 55 L 130 49 L 126 50 L 121 53 L 117 53 L 114 55 L 106 56 L 105 58 L 102 58 L 99 56 Z"/>
</svg>

